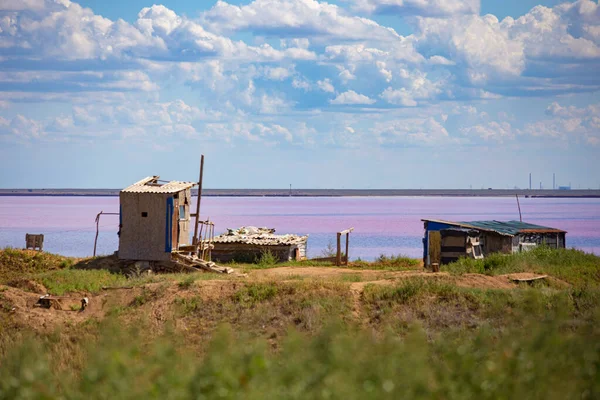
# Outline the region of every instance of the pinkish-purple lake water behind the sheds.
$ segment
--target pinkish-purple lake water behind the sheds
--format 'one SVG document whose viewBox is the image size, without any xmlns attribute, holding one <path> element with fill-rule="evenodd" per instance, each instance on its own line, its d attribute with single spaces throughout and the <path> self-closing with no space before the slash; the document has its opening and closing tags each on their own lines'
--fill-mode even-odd
<svg viewBox="0 0 600 400">
<path fill-rule="evenodd" d="M 193 208 L 192 208 L 193 209 Z M 566 230 L 567 247 L 600 254 L 600 199 L 521 199 L 523 220 Z M 25 233 L 43 233 L 44 249 L 84 257 L 93 252 L 95 217 L 118 212 L 118 197 L 0 197 L 0 247 L 21 248 Z M 321 255 L 336 232 L 354 227 L 350 258 L 422 255 L 421 218 L 455 221 L 518 220 L 514 198 L 504 197 L 205 197 L 202 218 L 215 233 L 243 225 L 308 234 L 308 255 Z M 118 216 L 100 220 L 98 254 L 118 248 Z"/>
</svg>

